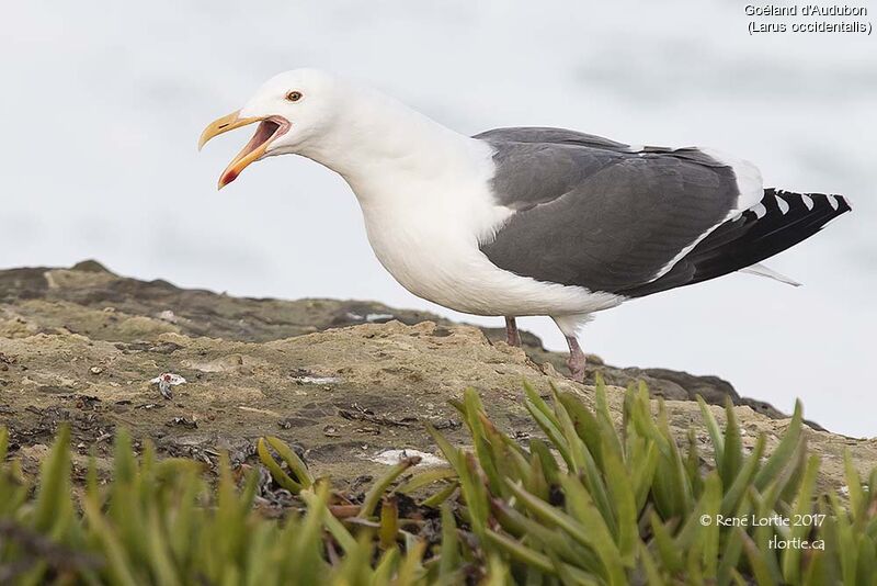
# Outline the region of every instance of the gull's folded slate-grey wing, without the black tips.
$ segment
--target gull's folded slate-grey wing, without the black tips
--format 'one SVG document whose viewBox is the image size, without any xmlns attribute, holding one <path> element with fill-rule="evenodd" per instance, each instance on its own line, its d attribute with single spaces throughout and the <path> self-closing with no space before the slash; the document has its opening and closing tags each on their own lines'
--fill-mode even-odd
<svg viewBox="0 0 877 586">
<path fill-rule="evenodd" d="M 633 149 L 561 128 L 477 135 L 494 149 L 497 203 L 515 211 L 481 250 L 539 281 L 630 294 L 728 218 L 733 169 L 696 148 Z"/>
</svg>

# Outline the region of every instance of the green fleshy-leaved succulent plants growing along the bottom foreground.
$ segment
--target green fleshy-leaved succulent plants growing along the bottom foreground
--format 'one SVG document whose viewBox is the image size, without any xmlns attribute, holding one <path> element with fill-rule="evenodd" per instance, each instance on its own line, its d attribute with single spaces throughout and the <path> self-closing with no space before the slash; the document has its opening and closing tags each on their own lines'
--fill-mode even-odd
<svg viewBox="0 0 877 586">
<path fill-rule="evenodd" d="M 62 427 L 31 483 L 0 429 L 0 584 L 877 584 L 877 472 L 863 483 L 847 454 L 848 493 L 819 492 L 800 405 L 767 454 L 763 436 L 744 449 L 730 403 L 722 430 L 701 402 L 702 450 L 645 386 L 617 421 L 602 381 L 593 408 L 524 392 L 544 437 L 503 433 L 467 390 L 452 403 L 471 448 L 429 428 L 447 465 L 406 459 L 361 497 L 259 440 L 292 495 L 280 518 L 259 464 L 223 458 L 214 477 L 148 441 L 135 457 L 121 430 L 112 477 L 92 462 L 75 487 Z"/>
</svg>

